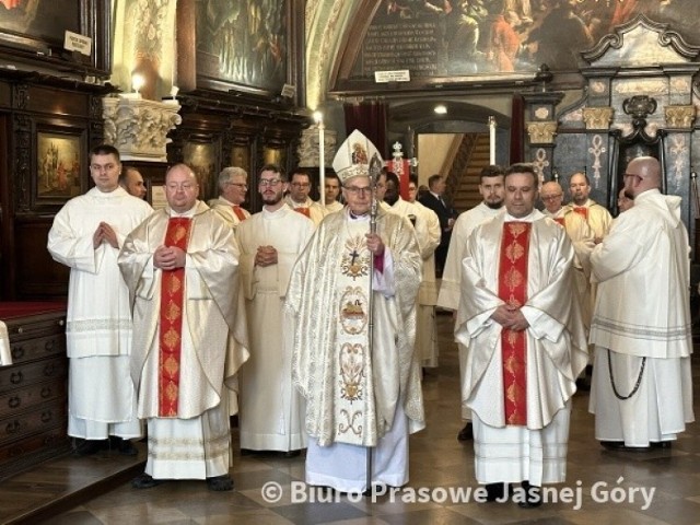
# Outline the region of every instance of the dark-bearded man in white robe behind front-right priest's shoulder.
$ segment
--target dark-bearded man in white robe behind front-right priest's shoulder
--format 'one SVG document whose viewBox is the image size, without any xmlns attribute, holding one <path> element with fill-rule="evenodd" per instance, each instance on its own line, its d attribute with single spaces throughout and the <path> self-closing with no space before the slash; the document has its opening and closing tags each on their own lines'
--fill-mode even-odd
<svg viewBox="0 0 700 525">
<path fill-rule="evenodd" d="M 467 240 L 475 228 L 503 211 L 503 168 L 495 164 L 487 166 L 481 170 L 479 180 L 479 194 L 483 200 L 475 208 L 459 213 L 457 217 L 450 240 L 445 268 L 440 281 L 438 306 L 453 312 L 456 312 L 459 307 L 462 260 L 467 247 Z M 463 381 L 467 353 L 459 341 L 457 341 L 457 351 L 459 355 L 459 378 Z M 465 420 L 465 424 L 457 434 L 457 440 L 467 441 L 472 438 L 471 413 L 464 405 L 462 406 L 462 419 Z"/>
</svg>

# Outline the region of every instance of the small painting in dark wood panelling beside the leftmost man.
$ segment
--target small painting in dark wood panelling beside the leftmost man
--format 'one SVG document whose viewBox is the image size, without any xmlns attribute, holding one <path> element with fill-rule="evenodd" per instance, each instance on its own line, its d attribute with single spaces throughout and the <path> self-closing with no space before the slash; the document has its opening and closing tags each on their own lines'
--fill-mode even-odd
<svg viewBox="0 0 700 525">
<path fill-rule="evenodd" d="M 62 201 L 82 192 L 84 163 L 80 136 L 39 131 L 36 151 L 38 201 Z"/>
</svg>

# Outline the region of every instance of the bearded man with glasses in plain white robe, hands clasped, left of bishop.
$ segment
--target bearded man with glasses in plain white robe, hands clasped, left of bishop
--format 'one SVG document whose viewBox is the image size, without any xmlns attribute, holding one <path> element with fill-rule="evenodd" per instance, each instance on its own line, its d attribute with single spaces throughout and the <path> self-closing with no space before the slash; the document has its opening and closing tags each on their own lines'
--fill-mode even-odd
<svg viewBox="0 0 700 525">
<path fill-rule="evenodd" d="M 264 166 L 258 182 L 262 211 L 236 230 L 250 337 L 250 359 L 238 374 L 241 448 L 291 456 L 306 447 L 305 408 L 292 385 L 294 327 L 284 296 L 315 226 L 284 203 L 288 183 L 279 166 Z"/>
</svg>

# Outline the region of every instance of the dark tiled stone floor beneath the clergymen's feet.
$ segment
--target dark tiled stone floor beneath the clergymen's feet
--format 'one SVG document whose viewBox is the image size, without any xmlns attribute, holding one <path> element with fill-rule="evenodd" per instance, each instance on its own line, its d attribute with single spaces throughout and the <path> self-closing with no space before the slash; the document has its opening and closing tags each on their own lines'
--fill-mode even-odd
<svg viewBox="0 0 700 525">
<path fill-rule="evenodd" d="M 410 482 L 400 492 L 371 498 L 328 497 L 303 488 L 303 457 L 241 455 L 234 431 L 233 492 L 215 493 L 203 481 L 171 481 L 136 490 L 121 482 L 114 490 L 50 517 L 46 523 L 92 524 L 643 524 L 700 523 L 700 429 L 688 431 L 670 450 L 609 452 L 593 436 L 588 396 L 573 402 L 567 482 L 550 495 L 558 501 L 538 509 L 513 502 L 458 501 L 455 491 L 474 490 L 471 442 L 460 443 L 458 369 L 451 317 L 438 316 L 440 368 L 424 377 L 428 427 L 410 439 Z M 700 368 L 693 366 L 698 385 Z M 698 388 L 696 387 L 696 393 Z M 698 411 L 696 394 L 696 411 Z M 143 453 L 141 453 L 143 454 Z M 70 458 L 67 482 L 91 458 Z M 78 475 L 78 474 L 77 474 Z M 301 489 L 299 489 L 301 487 Z M 292 494 L 292 488 L 296 492 Z M 0 487 L 0 490 L 2 487 Z M 421 492 L 420 490 L 424 492 Z M 281 490 L 277 501 L 269 501 Z M 643 494 L 653 492 L 650 504 Z M 418 491 L 418 492 L 417 492 Z M 646 492 L 644 492 L 646 491 Z M 428 494 L 428 495 L 425 495 Z M 452 494 L 452 495 L 451 495 Z M 580 498 L 579 498 L 580 495 Z M 268 500 L 266 500 L 266 497 Z M 330 501 L 326 501 L 330 499 Z M 319 501 L 324 500 L 324 501 Z M 471 499 L 472 500 L 472 499 Z M 36 522 L 35 522 L 36 523 Z"/>
</svg>

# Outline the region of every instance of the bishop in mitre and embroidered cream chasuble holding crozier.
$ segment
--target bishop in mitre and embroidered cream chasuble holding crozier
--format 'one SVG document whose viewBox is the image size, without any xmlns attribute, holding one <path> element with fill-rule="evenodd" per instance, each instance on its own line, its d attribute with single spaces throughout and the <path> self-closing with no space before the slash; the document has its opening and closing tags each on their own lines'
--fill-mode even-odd
<svg viewBox="0 0 700 525">
<path fill-rule="evenodd" d="M 360 131 L 340 145 L 334 168 L 348 205 L 316 230 L 287 296 L 293 381 L 306 399 L 306 482 L 342 492 L 405 485 L 408 434 L 424 427 L 413 352 L 421 258 L 407 219 L 378 210 L 371 228 L 369 174 L 381 166 Z"/>
</svg>

